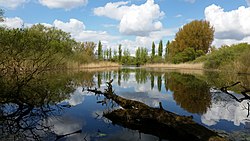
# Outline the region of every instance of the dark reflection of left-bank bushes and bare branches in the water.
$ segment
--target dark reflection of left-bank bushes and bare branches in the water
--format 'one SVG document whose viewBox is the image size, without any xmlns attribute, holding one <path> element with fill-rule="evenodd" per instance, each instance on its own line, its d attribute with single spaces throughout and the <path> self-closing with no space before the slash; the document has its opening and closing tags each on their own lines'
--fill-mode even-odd
<svg viewBox="0 0 250 141">
<path fill-rule="evenodd" d="M 0 140 L 55 140 L 62 137 L 54 134 L 53 126 L 44 124 L 43 120 L 58 116 L 70 107 L 57 103 L 69 98 L 77 86 L 94 84 L 93 75 L 77 76 L 80 79 L 74 80 L 73 76 L 65 74 L 43 73 L 28 81 L 21 75 L 16 77 L 2 76 L 0 79 Z M 82 81 L 82 77 L 86 79 Z"/>
</svg>

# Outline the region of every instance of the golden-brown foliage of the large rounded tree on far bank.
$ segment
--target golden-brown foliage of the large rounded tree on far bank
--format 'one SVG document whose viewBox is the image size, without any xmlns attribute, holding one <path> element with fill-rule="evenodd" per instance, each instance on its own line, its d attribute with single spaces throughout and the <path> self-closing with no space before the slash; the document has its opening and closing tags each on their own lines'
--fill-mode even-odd
<svg viewBox="0 0 250 141">
<path fill-rule="evenodd" d="M 175 40 L 169 45 L 171 56 L 184 51 L 187 48 L 195 52 L 207 53 L 214 39 L 214 28 L 208 21 L 194 20 L 176 33 Z"/>
</svg>

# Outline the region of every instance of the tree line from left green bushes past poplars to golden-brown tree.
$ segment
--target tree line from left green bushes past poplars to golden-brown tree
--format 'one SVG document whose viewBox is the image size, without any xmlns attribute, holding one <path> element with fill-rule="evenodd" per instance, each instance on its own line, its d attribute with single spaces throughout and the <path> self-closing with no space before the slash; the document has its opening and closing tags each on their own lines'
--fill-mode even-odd
<svg viewBox="0 0 250 141">
<path fill-rule="evenodd" d="M 4 20 L 3 14 L 3 10 L 0 10 L 0 21 Z M 132 56 L 121 44 L 117 50 L 104 50 L 101 41 L 97 44 L 76 42 L 69 33 L 55 27 L 41 24 L 19 29 L 1 27 L 0 66 L 6 72 L 7 68 L 13 66 L 19 67 L 16 68 L 19 70 L 38 66 L 46 69 L 66 68 L 98 61 L 137 66 L 146 63 L 181 63 L 206 54 L 211 48 L 213 33 L 214 29 L 209 22 L 195 20 L 180 28 L 173 41 L 163 45 L 160 40 L 158 51 L 155 42 L 152 42 L 151 54 L 147 48 L 138 47 L 135 56 Z"/>
</svg>

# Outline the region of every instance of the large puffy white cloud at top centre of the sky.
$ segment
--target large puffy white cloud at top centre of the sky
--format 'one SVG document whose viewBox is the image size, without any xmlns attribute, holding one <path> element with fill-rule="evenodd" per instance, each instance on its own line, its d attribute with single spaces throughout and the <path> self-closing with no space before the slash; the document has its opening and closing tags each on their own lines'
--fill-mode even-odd
<svg viewBox="0 0 250 141">
<path fill-rule="evenodd" d="M 119 31 L 125 35 L 147 36 L 152 31 L 162 29 L 160 19 L 164 12 L 160 11 L 154 0 L 147 0 L 142 5 L 128 4 L 124 1 L 107 3 L 104 7 L 95 8 L 94 14 L 119 20 Z"/>
</svg>

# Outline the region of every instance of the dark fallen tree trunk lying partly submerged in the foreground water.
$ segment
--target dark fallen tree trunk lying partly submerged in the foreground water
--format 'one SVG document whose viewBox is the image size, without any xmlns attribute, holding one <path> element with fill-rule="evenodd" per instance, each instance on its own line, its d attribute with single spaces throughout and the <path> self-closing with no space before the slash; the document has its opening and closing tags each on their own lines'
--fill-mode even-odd
<svg viewBox="0 0 250 141">
<path fill-rule="evenodd" d="M 142 102 L 122 98 L 114 94 L 111 82 L 107 82 L 107 87 L 104 92 L 97 89 L 88 89 L 88 91 L 103 94 L 123 108 L 104 114 L 104 117 L 114 124 L 152 134 L 160 139 L 224 140 L 216 132 L 195 123 L 192 117 L 166 111 L 162 106 L 152 108 Z"/>
</svg>

